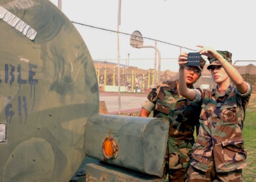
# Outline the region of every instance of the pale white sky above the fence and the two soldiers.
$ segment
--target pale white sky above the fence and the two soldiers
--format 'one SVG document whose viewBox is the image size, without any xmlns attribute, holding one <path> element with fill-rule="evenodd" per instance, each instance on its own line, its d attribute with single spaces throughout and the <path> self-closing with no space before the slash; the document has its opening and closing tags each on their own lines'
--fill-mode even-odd
<svg viewBox="0 0 256 182">
<path fill-rule="evenodd" d="M 58 0 L 51 0 L 58 5 Z M 255 0 L 121 0 L 119 32 L 157 39 L 161 70 L 177 72 L 180 47 L 197 50 L 196 45 L 210 45 L 228 50 L 232 60 L 255 60 Z M 62 0 L 62 12 L 73 22 L 116 31 L 118 0 Z M 74 23 L 85 41 L 93 60 L 117 62 L 116 33 Z M 155 41 L 143 39 L 143 45 Z M 193 52 L 181 49 L 182 52 Z M 141 69 L 154 69 L 155 49 L 135 49 L 130 36 L 119 34 L 120 64 Z M 129 55 L 129 56 L 128 56 Z M 158 67 L 157 56 L 157 67 Z M 241 64 L 255 62 L 240 62 Z"/>
</svg>

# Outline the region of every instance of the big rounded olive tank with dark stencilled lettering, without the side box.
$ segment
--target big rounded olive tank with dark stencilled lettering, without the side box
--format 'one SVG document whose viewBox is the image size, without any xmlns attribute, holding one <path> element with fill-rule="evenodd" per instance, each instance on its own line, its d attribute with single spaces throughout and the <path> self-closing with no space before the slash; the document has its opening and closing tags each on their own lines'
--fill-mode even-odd
<svg viewBox="0 0 256 182">
<path fill-rule="evenodd" d="M 0 39 L 0 181 L 68 181 L 99 108 L 87 46 L 45 0 L 1 0 Z"/>
</svg>

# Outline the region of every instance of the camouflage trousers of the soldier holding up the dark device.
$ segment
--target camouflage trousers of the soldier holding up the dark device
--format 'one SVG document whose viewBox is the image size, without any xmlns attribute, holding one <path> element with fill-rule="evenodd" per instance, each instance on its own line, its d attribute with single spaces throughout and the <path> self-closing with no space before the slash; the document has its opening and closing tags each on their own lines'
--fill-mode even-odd
<svg viewBox="0 0 256 182">
<path fill-rule="evenodd" d="M 187 170 L 185 182 L 205 182 L 205 181 L 233 181 L 240 182 L 242 180 L 242 169 L 233 170 L 230 172 L 216 172 L 215 162 L 213 157 L 209 162 L 207 172 L 196 169 L 190 166 Z"/>
</svg>

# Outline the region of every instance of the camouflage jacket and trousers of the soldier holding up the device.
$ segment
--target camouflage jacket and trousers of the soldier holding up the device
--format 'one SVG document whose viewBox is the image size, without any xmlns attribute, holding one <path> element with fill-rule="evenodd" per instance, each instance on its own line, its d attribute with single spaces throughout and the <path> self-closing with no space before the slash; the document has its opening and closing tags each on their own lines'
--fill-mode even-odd
<svg viewBox="0 0 256 182">
<path fill-rule="evenodd" d="M 251 86 L 247 87 L 244 94 L 234 86 L 222 95 L 216 88 L 201 92 L 200 128 L 192 150 L 193 167 L 188 170 L 190 181 L 205 180 L 210 170 L 218 178 L 226 174 L 222 181 L 241 181 L 241 169 L 246 167 L 242 129 L 251 96 Z"/>
</svg>

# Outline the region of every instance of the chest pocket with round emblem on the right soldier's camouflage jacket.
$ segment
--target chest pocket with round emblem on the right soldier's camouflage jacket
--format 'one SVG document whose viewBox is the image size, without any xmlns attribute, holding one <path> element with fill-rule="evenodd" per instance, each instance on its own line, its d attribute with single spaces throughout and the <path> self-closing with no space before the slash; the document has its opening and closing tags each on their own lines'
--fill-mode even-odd
<svg viewBox="0 0 256 182">
<path fill-rule="evenodd" d="M 238 124 L 236 103 L 228 103 L 221 106 L 219 112 L 221 124 Z"/>
</svg>

